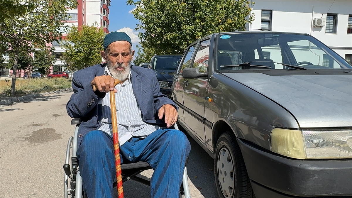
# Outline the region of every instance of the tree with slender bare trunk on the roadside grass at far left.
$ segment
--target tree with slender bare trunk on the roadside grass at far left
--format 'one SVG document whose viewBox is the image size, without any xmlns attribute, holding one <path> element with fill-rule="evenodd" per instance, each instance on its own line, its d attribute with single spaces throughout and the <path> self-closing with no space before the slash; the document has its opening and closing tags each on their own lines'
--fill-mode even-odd
<svg viewBox="0 0 352 198">
<path fill-rule="evenodd" d="M 60 27 L 64 25 L 67 8 L 76 7 L 75 0 L 22 0 L 21 4 L 32 5 L 21 17 L 0 21 L 1 51 L 14 54 L 13 73 L 17 72 L 18 55 L 36 47 L 61 39 Z M 16 77 L 12 75 L 11 95 L 15 95 Z"/>
</svg>

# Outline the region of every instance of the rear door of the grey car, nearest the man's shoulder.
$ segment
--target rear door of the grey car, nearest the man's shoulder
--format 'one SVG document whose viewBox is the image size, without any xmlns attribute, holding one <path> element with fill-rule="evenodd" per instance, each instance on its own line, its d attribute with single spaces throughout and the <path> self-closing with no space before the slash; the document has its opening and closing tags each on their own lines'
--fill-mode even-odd
<svg viewBox="0 0 352 198">
<path fill-rule="evenodd" d="M 178 65 L 178 68 L 174 75 L 174 80 L 172 83 L 172 98 L 174 99 L 176 105 L 180 107 L 178 110 L 178 116 L 180 117 L 180 122 L 186 123 L 183 114 L 183 87 L 184 87 L 184 78 L 182 77 L 182 72 L 184 68 L 188 68 L 190 65 L 191 58 L 194 53 L 196 44 L 187 48 L 184 52 L 181 61 Z"/>
</svg>

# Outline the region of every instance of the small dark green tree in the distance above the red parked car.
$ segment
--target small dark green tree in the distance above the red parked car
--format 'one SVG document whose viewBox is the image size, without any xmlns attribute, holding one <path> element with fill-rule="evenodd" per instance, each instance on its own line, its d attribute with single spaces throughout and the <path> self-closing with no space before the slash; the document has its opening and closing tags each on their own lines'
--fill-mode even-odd
<svg viewBox="0 0 352 198">
<path fill-rule="evenodd" d="M 51 48 L 44 48 L 36 50 L 34 52 L 33 66 L 37 72 L 43 74 L 48 74 L 50 71 L 50 66 L 55 63 L 55 56 L 53 56 L 53 51 Z"/>
</svg>

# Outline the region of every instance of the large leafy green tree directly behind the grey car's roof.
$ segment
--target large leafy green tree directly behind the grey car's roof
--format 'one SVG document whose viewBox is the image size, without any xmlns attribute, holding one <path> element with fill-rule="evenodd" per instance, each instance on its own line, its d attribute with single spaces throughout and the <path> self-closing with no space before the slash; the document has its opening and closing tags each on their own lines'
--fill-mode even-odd
<svg viewBox="0 0 352 198">
<path fill-rule="evenodd" d="M 244 31 L 254 14 L 248 0 L 128 0 L 139 20 L 143 49 L 182 54 L 197 39 L 215 32 Z"/>
</svg>

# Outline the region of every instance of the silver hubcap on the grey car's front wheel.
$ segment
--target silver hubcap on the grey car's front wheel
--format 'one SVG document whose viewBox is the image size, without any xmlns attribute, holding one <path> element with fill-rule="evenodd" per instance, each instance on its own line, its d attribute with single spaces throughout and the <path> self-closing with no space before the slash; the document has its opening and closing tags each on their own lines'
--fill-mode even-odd
<svg viewBox="0 0 352 198">
<path fill-rule="evenodd" d="M 234 193 L 234 176 L 232 156 L 227 148 L 221 148 L 218 155 L 218 178 L 224 197 L 232 197 Z"/>
</svg>

